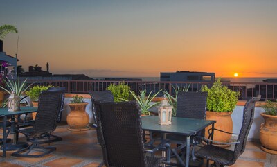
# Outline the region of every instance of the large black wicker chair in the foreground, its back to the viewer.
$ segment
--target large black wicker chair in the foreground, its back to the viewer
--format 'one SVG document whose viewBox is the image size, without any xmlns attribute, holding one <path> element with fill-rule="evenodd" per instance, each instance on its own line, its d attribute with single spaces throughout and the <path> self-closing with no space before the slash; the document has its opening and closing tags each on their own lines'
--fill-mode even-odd
<svg viewBox="0 0 277 167">
<path fill-rule="evenodd" d="M 165 160 L 164 157 L 145 156 L 141 109 L 136 102 L 111 103 L 94 100 L 94 105 L 105 166 L 161 165 Z M 166 148 L 167 154 L 170 154 L 169 143 L 166 144 Z M 157 149 L 159 148 L 154 148 L 150 152 Z"/>
</svg>

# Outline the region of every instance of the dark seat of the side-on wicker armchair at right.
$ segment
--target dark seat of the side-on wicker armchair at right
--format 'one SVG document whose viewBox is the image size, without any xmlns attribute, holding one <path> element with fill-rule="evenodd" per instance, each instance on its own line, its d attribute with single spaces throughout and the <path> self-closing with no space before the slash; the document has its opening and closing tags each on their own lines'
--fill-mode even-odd
<svg viewBox="0 0 277 167">
<path fill-rule="evenodd" d="M 195 152 L 196 157 L 202 157 L 205 159 L 211 159 L 212 161 L 217 161 L 223 165 L 232 165 L 234 152 L 225 148 L 220 148 L 213 145 L 207 145 L 200 148 Z"/>
</svg>

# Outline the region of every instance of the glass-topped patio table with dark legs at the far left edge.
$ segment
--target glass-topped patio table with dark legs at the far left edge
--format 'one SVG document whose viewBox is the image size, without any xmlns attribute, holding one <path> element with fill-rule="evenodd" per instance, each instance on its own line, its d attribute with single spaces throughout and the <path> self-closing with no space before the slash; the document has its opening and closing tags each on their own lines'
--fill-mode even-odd
<svg viewBox="0 0 277 167">
<path fill-rule="evenodd" d="M 16 131 L 16 126 L 17 123 L 20 122 L 20 116 L 22 114 L 29 114 L 32 112 L 37 112 L 37 107 L 20 107 L 20 111 L 15 112 L 8 111 L 8 108 L 0 108 L 0 117 L 3 118 L 3 146 L 1 147 L 1 149 L 3 150 L 3 158 L 6 157 L 6 150 L 17 150 L 19 148 L 24 148 L 28 146 L 28 143 L 18 141 L 18 132 Z M 8 117 L 10 117 L 10 134 L 13 134 L 13 139 L 12 143 L 9 143 L 7 145 L 6 139 L 8 137 L 8 134 L 6 130 Z"/>
</svg>

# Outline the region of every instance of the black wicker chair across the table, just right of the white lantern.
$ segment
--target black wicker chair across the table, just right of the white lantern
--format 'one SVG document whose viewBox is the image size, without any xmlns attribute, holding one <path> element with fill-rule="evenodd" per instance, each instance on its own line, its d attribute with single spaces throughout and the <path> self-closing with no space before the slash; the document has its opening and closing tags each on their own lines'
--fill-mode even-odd
<svg viewBox="0 0 277 167">
<path fill-rule="evenodd" d="M 177 111 L 176 116 L 182 118 L 196 118 L 206 119 L 206 92 L 185 92 L 179 91 L 177 96 Z M 197 132 L 197 136 L 204 137 L 205 130 Z M 185 151 L 184 148 L 187 146 L 186 137 L 177 134 L 166 134 L 166 139 L 170 140 L 170 143 L 177 143 L 176 148 L 172 148 L 172 152 L 175 157 L 184 166 Z M 193 139 L 193 137 L 191 137 Z M 190 143 L 188 143 L 190 145 Z M 180 157 L 181 155 L 181 157 Z M 199 159 L 196 166 L 201 166 L 202 161 Z"/>
</svg>

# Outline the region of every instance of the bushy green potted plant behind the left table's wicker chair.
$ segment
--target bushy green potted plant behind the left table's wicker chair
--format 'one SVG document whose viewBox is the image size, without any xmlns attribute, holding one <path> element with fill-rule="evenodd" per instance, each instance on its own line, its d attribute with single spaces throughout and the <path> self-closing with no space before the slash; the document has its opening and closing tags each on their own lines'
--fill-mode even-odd
<svg viewBox="0 0 277 167">
<path fill-rule="evenodd" d="M 41 94 L 42 91 L 46 91 L 49 87 L 53 87 L 53 86 L 35 85 L 34 87 L 31 87 L 28 91 L 26 91 L 26 95 L 30 97 L 30 100 L 32 100 L 33 107 L 38 106 L 39 94 Z M 36 112 L 32 113 L 33 119 L 35 119 L 36 115 L 37 115 Z"/>
</svg>

